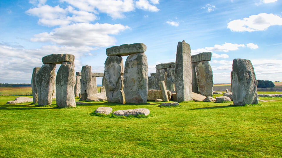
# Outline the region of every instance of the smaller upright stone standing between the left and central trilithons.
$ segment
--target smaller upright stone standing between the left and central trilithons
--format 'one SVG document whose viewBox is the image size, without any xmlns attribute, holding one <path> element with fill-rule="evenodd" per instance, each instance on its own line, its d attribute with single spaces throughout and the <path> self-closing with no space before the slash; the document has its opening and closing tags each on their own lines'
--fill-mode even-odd
<svg viewBox="0 0 282 158">
<path fill-rule="evenodd" d="M 81 88 L 80 88 L 80 94 L 81 98 L 80 100 L 86 100 L 87 97 L 90 97 L 93 95 L 93 81 L 92 81 L 92 72 L 91 72 L 91 66 L 82 66 L 81 69 Z"/>
</svg>

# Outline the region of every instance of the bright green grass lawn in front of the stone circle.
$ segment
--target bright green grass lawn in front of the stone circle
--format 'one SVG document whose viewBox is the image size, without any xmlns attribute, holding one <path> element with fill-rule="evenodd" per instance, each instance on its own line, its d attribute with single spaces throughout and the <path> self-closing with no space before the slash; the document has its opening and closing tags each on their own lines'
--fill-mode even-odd
<svg viewBox="0 0 282 158">
<path fill-rule="evenodd" d="M 282 157 L 282 98 L 244 107 L 95 102 L 61 109 L 55 101 L 5 104 L 13 99 L 0 97 L 0 157 Z M 101 106 L 147 108 L 150 116 L 93 115 Z"/>
</svg>

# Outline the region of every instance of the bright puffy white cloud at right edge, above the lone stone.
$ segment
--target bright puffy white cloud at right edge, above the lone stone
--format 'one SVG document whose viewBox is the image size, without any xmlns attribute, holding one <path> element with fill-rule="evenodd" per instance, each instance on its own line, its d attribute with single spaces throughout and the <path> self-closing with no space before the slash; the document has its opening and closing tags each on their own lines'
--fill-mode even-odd
<svg viewBox="0 0 282 158">
<path fill-rule="evenodd" d="M 244 18 L 243 20 L 233 20 L 227 25 L 227 28 L 236 32 L 263 31 L 272 25 L 282 25 L 282 18 L 274 14 L 260 13 L 258 15 L 252 15 L 249 18 Z"/>
</svg>

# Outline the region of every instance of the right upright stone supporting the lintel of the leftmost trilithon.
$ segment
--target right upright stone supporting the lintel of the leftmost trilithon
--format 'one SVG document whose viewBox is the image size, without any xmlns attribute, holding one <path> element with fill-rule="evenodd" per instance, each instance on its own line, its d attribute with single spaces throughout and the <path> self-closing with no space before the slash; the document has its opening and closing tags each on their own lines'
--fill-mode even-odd
<svg viewBox="0 0 282 158">
<path fill-rule="evenodd" d="M 74 62 L 63 62 L 56 77 L 56 104 L 58 107 L 76 107 Z"/>
</svg>

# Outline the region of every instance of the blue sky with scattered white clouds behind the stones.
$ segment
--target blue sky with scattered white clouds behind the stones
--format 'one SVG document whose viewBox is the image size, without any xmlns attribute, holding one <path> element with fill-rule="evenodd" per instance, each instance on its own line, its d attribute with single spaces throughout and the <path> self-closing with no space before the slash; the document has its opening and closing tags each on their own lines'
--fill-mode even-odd
<svg viewBox="0 0 282 158">
<path fill-rule="evenodd" d="M 106 48 L 132 43 L 147 46 L 150 76 L 182 40 L 191 55 L 212 52 L 214 83 L 231 82 L 236 58 L 251 60 L 257 79 L 281 81 L 281 37 L 282 0 L 1 0 L 0 83 L 31 83 L 52 53 L 103 73 Z"/>
</svg>

